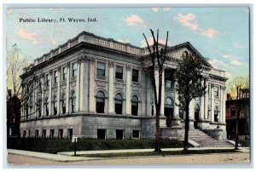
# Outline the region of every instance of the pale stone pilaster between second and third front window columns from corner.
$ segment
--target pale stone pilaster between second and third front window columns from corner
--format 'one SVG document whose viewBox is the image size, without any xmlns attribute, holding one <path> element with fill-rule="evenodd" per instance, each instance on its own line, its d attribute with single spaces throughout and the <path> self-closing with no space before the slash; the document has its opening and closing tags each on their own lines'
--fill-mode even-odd
<svg viewBox="0 0 256 172">
<path fill-rule="evenodd" d="M 131 66 L 126 66 L 126 87 L 125 88 L 126 88 L 125 114 L 131 115 Z"/>
</svg>

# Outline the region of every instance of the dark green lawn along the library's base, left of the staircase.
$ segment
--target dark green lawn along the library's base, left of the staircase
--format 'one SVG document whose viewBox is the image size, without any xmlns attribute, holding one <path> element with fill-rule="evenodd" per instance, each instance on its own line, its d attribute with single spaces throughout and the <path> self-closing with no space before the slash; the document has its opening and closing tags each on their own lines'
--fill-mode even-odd
<svg viewBox="0 0 256 172">
<path fill-rule="evenodd" d="M 15 138 L 8 139 L 8 148 L 33 152 L 72 152 L 73 143 L 68 139 L 21 138 L 17 146 Z M 161 140 L 162 148 L 183 147 L 180 140 Z M 77 151 L 148 149 L 154 148 L 154 140 L 96 140 L 79 139 Z"/>
</svg>

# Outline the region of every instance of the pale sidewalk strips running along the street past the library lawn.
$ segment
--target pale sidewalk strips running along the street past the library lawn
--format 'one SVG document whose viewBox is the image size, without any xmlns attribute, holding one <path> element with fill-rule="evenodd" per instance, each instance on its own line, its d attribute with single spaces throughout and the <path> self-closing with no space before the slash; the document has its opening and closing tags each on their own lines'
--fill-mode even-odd
<svg viewBox="0 0 256 172">
<path fill-rule="evenodd" d="M 189 147 L 189 150 L 231 150 L 234 147 Z M 162 151 L 182 151 L 183 148 L 162 148 Z M 126 149 L 126 150 L 101 150 L 101 151 L 79 151 L 76 152 L 77 155 L 88 155 L 97 153 L 119 153 L 119 152 L 153 152 L 154 149 Z M 43 158 L 47 160 L 57 161 L 57 162 L 75 162 L 75 161 L 90 161 L 104 158 L 86 158 L 86 157 L 74 157 L 73 152 L 58 152 L 58 154 L 50 154 L 43 152 L 29 152 L 8 149 L 9 154 L 21 155 L 32 158 Z M 237 152 L 250 152 L 249 147 L 240 147 Z"/>
</svg>

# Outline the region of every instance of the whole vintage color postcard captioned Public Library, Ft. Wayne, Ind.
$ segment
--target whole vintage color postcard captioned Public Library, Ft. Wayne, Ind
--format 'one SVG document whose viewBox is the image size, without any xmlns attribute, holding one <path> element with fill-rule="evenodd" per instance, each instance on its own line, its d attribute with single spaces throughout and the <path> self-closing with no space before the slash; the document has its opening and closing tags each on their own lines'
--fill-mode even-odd
<svg viewBox="0 0 256 172">
<path fill-rule="evenodd" d="M 7 9 L 9 165 L 251 163 L 251 10 Z"/>
</svg>

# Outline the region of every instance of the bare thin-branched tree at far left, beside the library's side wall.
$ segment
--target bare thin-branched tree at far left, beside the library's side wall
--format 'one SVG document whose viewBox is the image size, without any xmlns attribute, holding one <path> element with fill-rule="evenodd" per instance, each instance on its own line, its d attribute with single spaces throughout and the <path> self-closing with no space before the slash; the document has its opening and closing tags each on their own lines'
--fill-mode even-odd
<svg viewBox="0 0 256 172">
<path fill-rule="evenodd" d="M 16 128 L 20 129 L 20 110 L 30 108 L 31 106 L 37 106 L 32 113 L 28 116 L 32 116 L 39 111 L 37 100 L 34 100 L 33 95 L 42 91 L 42 74 L 32 73 L 31 77 L 22 81 L 20 75 L 31 68 L 27 66 L 28 60 L 21 55 L 21 51 L 16 44 L 12 46 L 12 49 L 7 54 L 7 91 L 9 95 L 9 105 L 7 108 L 9 112 L 16 114 Z M 18 115 L 19 114 L 19 115 Z M 17 137 L 20 138 L 20 130 L 16 131 Z"/>
</svg>

